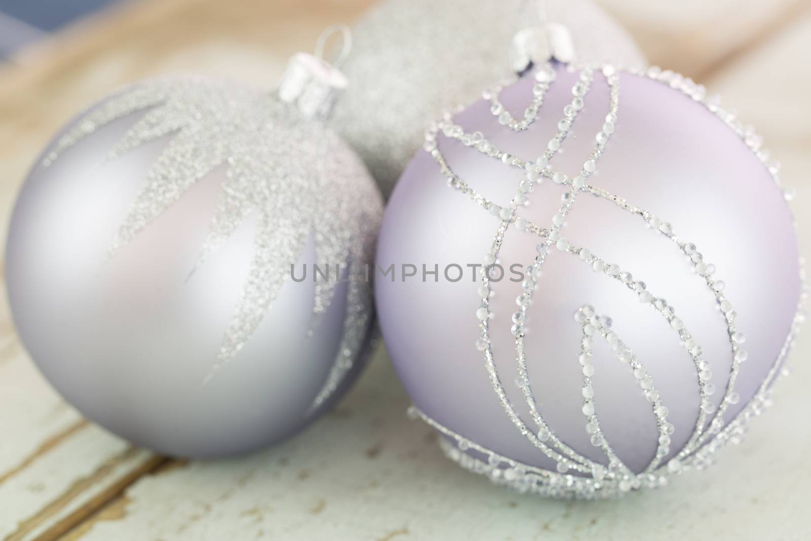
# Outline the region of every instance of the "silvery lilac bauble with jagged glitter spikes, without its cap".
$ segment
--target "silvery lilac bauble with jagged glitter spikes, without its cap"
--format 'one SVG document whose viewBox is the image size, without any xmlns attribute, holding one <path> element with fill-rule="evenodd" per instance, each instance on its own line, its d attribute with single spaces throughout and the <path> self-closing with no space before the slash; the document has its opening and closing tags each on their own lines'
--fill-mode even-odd
<svg viewBox="0 0 811 541">
<path fill-rule="evenodd" d="M 93 421 L 161 453 L 247 452 L 358 371 L 371 286 L 343 278 L 370 260 L 381 212 L 350 148 L 275 95 L 135 84 L 70 122 L 25 182 L 14 320 Z"/>
</svg>

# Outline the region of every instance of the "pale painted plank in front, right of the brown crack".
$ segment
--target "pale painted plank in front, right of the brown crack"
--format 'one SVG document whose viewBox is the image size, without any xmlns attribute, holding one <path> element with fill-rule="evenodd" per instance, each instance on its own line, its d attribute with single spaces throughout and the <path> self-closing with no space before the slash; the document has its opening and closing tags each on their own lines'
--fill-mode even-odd
<svg viewBox="0 0 811 541">
<path fill-rule="evenodd" d="M 805 344 L 808 341 L 804 342 Z M 381 354 L 341 407 L 276 449 L 191 462 L 127 490 L 126 514 L 83 541 L 140 539 L 809 539 L 803 367 L 769 419 L 702 474 L 667 490 L 594 503 L 542 500 L 450 465 L 405 419 Z M 780 419 L 776 422 L 776 419 Z M 762 422 L 759 422 L 762 421 Z M 786 449 L 781 450 L 781 446 Z"/>
</svg>

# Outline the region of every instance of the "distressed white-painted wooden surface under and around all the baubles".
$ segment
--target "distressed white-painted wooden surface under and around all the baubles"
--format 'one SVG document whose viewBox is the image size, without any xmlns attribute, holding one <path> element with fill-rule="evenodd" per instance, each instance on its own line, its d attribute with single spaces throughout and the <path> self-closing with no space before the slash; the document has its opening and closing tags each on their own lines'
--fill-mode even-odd
<svg viewBox="0 0 811 541">
<path fill-rule="evenodd" d="M 291 50 L 367 2 L 254 2 L 228 16 L 211 0 L 150 2 L 30 53 L 32 68 L 0 71 L 0 232 L 28 163 L 80 105 L 158 71 L 272 81 Z M 602 3 L 654 61 L 705 74 L 766 136 L 797 191 L 811 253 L 811 2 Z M 805 330 L 774 408 L 717 466 L 666 490 L 584 504 L 519 496 L 446 462 L 429 429 L 405 419 L 408 400 L 382 349 L 337 410 L 275 449 L 218 462 L 153 456 L 54 393 L 3 305 L 0 539 L 811 539 Z"/>
</svg>

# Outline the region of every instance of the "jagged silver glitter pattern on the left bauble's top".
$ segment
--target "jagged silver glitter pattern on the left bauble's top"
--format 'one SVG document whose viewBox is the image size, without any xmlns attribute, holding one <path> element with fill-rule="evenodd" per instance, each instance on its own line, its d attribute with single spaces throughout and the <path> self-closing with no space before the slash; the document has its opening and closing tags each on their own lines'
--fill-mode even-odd
<svg viewBox="0 0 811 541">
<path fill-rule="evenodd" d="M 143 115 L 112 144 L 110 160 L 160 137 L 171 139 L 114 235 L 110 257 L 197 180 L 219 167 L 225 168 L 225 180 L 195 268 L 248 216 L 257 216 L 250 276 L 207 380 L 238 356 L 272 307 L 311 234 L 320 264 L 341 263 L 350 276 L 363 274 L 380 221 L 380 195 L 372 182 L 363 182 L 367 178 L 363 164 L 337 135 L 319 122 L 303 121 L 292 106 L 268 93 L 198 76 L 144 81 L 85 114 L 58 140 L 45 165 L 98 128 L 137 112 Z M 335 290 L 334 277 L 315 286 L 311 332 Z M 351 281 L 341 343 L 313 408 L 344 380 L 370 324 L 371 287 Z"/>
</svg>

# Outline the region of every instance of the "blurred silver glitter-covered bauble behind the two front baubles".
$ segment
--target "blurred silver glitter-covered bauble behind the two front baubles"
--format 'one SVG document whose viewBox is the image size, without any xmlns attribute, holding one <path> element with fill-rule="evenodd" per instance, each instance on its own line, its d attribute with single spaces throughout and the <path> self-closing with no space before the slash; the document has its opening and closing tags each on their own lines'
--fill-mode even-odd
<svg viewBox="0 0 811 541">
<path fill-rule="evenodd" d="M 510 75 L 513 36 L 539 24 L 539 10 L 569 29 L 578 61 L 646 64 L 631 37 L 590 0 L 384 0 L 358 22 L 342 68 L 351 84 L 333 126 L 384 196 L 422 144 L 427 122 Z"/>
</svg>

